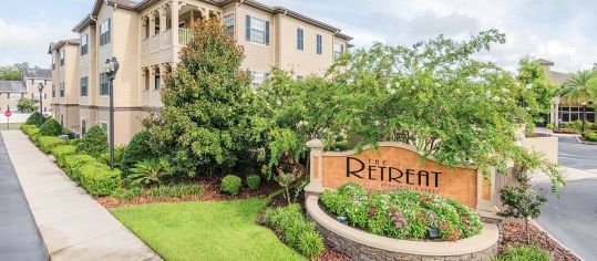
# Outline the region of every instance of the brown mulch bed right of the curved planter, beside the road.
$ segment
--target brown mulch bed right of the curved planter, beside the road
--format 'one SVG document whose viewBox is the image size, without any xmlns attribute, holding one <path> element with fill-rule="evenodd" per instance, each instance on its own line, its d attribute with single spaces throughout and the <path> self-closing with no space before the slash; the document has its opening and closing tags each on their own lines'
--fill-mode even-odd
<svg viewBox="0 0 597 261">
<path fill-rule="evenodd" d="M 537 229 L 533 223 L 528 223 L 531 233 L 531 244 L 538 246 L 547 250 L 554 260 L 580 260 L 559 243 L 552 240 L 547 233 Z M 504 252 L 506 246 L 526 246 L 526 233 L 524 223 L 506 222 L 502 226 L 502 239 L 497 246 L 500 253 Z"/>
</svg>

